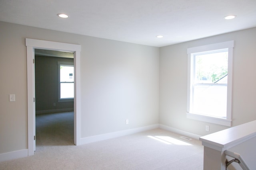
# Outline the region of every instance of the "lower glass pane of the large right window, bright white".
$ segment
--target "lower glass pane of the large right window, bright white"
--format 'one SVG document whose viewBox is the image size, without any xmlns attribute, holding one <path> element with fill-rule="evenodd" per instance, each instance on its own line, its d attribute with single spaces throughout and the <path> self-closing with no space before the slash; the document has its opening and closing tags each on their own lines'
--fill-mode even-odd
<svg viewBox="0 0 256 170">
<path fill-rule="evenodd" d="M 194 86 L 193 112 L 226 118 L 227 86 Z"/>
</svg>

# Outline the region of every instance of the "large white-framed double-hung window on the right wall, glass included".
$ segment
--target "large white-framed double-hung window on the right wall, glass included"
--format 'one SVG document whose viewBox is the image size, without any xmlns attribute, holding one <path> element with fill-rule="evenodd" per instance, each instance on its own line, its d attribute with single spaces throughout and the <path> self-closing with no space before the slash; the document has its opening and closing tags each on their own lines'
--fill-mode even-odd
<svg viewBox="0 0 256 170">
<path fill-rule="evenodd" d="M 187 117 L 231 126 L 234 41 L 188 49 Z"/>
</svg>

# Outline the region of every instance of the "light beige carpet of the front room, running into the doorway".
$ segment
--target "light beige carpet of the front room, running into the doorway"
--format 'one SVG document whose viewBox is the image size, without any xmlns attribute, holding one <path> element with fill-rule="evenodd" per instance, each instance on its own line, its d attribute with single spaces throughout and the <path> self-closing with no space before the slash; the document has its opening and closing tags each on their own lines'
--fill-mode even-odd
<svg viewBox="0 0 256 170">
<path fill-rule="evenodd" d="M 65 121 L 62 119 L 60 122 L 64 123 Z M 74 139 L 71 139 L 71 136 L 67 137 L 68 135 L 61 134 L 63 132 L 58 133 L 56 129 L 59 127 L 53 125 L 54 123 L 50 120 L 49 123 L 49 126 L 40 127 L 42 129 L 37 127 L 37 135 L 40 134 L 39 131 L 41 131 L 41 135 L 37 137 L 37 150 L 34 156 L 1 162 L 0 170 L 203 169 L 201 142 L 194 139 L 190 141 L 181 139 L 181 135 L 169 131 L 154 129 L 74 146 L 72 145 Z M 68 127 L 68 125 L 61 126 L 62 129 Z M 52 134 L 46 135 L 43 129 Z M 66 129 L 66 131 L 70 135 L 70 129 Z M 61 134 L 62 138 L 58 139 L 59 135 L 57 134 Z"/>
</svg>

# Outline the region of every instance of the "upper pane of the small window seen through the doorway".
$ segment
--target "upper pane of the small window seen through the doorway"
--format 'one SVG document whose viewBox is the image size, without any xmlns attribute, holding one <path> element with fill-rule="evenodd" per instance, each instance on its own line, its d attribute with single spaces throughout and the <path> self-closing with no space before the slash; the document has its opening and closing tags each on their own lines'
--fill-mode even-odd
<svg viewBox="0 0 256 170">
<path fill-rule="evenodd" d="M 74 66 L 60 65 L 60 82 L 74 82 Z"/>
</svg>

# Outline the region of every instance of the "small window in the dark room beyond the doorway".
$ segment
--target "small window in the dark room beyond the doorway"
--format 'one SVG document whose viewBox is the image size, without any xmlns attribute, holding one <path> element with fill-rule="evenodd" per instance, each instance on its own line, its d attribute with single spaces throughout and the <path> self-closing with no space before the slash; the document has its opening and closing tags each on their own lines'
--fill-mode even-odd
<svg viewBox="0 0 256 170">
<path fill-rule="evenodd" d="M 58 102 L 74 101 L 74 63 L 58 62 Z"/>
</svg>

